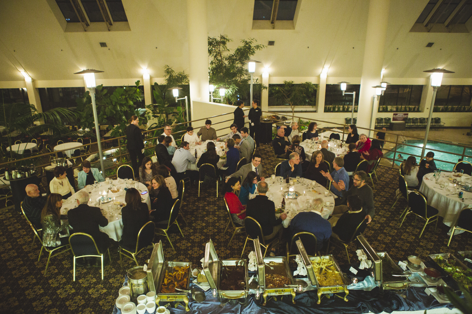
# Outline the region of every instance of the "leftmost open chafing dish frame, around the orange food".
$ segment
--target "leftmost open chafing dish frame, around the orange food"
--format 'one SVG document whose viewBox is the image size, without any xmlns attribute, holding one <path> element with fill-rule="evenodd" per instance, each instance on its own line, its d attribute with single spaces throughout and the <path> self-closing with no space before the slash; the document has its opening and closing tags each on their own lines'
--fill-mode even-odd
<svg viewBox="0 0 472 314">
<path fill-rule="evenodd" d="M 187 284 L 183 290 L 175 293 L 162 293 L 161 286 L 164 278 L 166 276 L 166 271 L 172 272 L 175 266 L 188 266 L 188 275 L 187 275 Z M 159 242 L 154 245 L 154 250 L 152 250 L 151 258 L 148 264 L 147 276 L 148 276 L 148 285 L 149 290 L 156 292 L 156 304 L 159 306 L 159 301 L 164 300 L 168 302 L 184 302 L 185 311 L 190 311 L 188 307 L 188 297 L 187 293 L 190 287 L 190 275 L 192 263 L 190 262 L 174 262 L 174 261 L 165 261 L 164 253 L 162 251 L 162 244 Z"/>
</svg>

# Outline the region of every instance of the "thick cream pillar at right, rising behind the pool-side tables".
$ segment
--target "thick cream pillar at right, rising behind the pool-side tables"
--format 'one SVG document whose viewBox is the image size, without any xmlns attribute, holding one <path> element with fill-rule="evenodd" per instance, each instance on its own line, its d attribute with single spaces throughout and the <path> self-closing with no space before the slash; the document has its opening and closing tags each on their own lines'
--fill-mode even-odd
<svg viewBox="0 0 472 314">
<path fill-rule="evenodd" d="M 359 109 L 357 127 L 368 128 L 371 121 L 372 86 L 380 84 L 380 75 L 387 36 L 388 11 L 390 0 L 370 0 L 367 17 L 367 34 L 365 36 L 364 61 L 362 64 L 361 89 L 359 92 Z M 375 121 L 374 110 L 373 120 Z M 362 130 L 359 133 L 363 132 Z"/>
</svg>

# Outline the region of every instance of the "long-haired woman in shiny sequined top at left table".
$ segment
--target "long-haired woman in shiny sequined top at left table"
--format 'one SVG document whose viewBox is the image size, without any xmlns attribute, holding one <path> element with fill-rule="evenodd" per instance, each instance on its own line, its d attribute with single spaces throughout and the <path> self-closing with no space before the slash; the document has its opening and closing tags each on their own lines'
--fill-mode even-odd
<svg viewBox="0 0 472 314">
<path fill-rule="evenodd" d="M 67 215 L 60 214 L 61 207 L 62 195 L 49 194 L 41 212 L 42 243 L 44 246 L 56 247 L 69 244 L 69 224 L 67 221 L 61 224 L 61 219 L 67 219 Z"/>
</svg>

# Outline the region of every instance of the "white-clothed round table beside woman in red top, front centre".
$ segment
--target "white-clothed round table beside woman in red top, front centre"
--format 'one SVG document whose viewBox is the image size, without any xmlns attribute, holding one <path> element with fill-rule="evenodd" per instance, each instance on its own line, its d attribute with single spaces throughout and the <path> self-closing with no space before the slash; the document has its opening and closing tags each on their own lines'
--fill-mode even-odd
<svg viewBox="0 0 472 314">
<path fill-rule="evenodd" d="M 287 183 L 285 183 L 285 179 L 280 181 L 282 177 L 275 177 L 275 179 L 266 178 L 265 182 L 269 185 L 269 191 L 267 192 L 266 196 L 269 197 L 269 200 L 275 203 L 275 208 L 279 208 L 280 204 L 282 203 L 282 193 L 280 192 L 281 188 L 283 193 L 288 191 Z M 293 179 L 293 178 L 292 178 Z M 323 205 L 323 212 L 321 216 L 325 219 L 328 219 L 329 215 L 333 213 L 334 209 L 334 197 L 331 192 L 329 192 L 328 196 L 325 196 L 324 191 L 326 188 L 315 181 L 308 180 L 306 178 L 300 178 L 294 180 L 294 187 L 295 191 L 301 193 L 302 195 L 299 196 L 297 199 L 285 199 L 285 212 L 287 213 L 287 218 L 282 222 L 284 228 L 287 228 L 290 225 L 290 222 L 295 217 L 295 215 L 301 211 L 311 211 L 312 208 L 308 207 L 305 201 L 313 200 L 315 198 L 322 198 L 323 201 L 329 201 L 329 205 L 327 206 L 326 203 Z M 297 182 L 295 182 L 297 181 Z M 282 183 L 282 184 L 280 184 Z M 315 183 L 315 185 L 313 185 Z M 307 186 L 308 185 L 308 186 Z M 305 196 L 303 196 L 303 191 L 305 192 Z M 253 198 L 257 194 L 251 195 L 250 198 Z M 278 216 L 278 215 L 277 215 Z"/>
</svg>

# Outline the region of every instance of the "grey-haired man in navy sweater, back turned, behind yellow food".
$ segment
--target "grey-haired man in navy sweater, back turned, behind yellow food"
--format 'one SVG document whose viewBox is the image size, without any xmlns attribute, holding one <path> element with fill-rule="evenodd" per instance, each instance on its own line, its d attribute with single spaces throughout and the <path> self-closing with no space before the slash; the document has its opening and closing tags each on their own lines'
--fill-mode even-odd
<svg viewBox="0 0 472 314">
<path fill-rule="evenodd" d="M 321 250 L 328 243 L 331 236 L 331 225 L 328 220 L 321 217 L 323 211 L 324 200 L 316 198 L 313 200 L 312 211 L 302 211 L 298 213 L 290 222 L 290 230 L 292 236 L 297 232 L 310 232 L 316 237 L 317 248 L 315 252 Z"/>
</svg>

